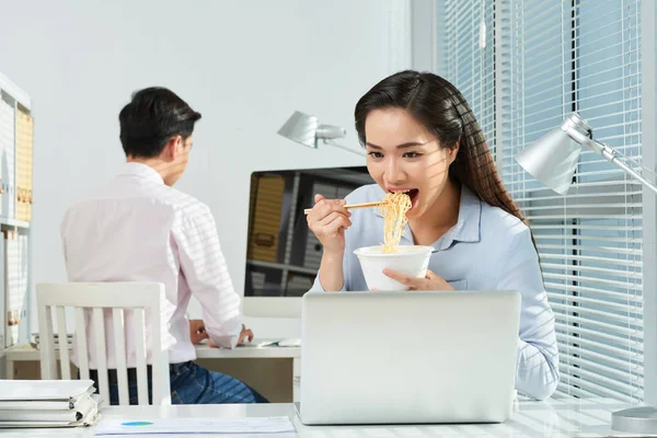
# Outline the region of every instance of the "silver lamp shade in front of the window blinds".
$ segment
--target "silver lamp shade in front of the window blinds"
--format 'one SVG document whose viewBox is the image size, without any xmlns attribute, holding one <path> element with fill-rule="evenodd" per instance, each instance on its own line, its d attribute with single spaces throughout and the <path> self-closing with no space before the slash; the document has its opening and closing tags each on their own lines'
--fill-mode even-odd
<svg viewBox="0 0 657 438">
<path fill-rule="evenodd" d="M 589 131 L 588 125 L 573 113 L 560 128 L 518 153 L 516 161 L 545 186 L 565 195 L 577 169 L 580 143 L 589 140 Z"/>
</svg>

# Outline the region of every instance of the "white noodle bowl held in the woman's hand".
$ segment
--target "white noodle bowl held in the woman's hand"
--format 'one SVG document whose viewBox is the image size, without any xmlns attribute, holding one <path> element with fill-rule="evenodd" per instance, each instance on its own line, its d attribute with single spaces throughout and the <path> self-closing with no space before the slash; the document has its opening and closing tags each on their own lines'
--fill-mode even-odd
<svg viewBox="0 0 657 438">
<path fill-rule="evenodd" d="M 364 246 L 354 251 L 360 261 L 365 281 L 370 290 L 407 290 L 408 287 L 393 280 L 383 269 L 389 268 L 410 277 L 427 275 L 433 246 L 400 245 L 394 254 L 381 254 L 382 245 Z"/>
</svg>

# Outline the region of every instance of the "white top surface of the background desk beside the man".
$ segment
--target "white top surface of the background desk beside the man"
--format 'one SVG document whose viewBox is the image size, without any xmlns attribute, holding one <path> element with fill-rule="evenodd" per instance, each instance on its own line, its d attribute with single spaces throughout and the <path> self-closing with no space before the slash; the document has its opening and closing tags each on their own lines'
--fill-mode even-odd
<svg viewBox="0 0 657 438">
<path fill-rule="evenodd" d="M 70 350 L 70 353 L 72 355 L 72 350 Z M 59 355 L 57 349 L 55 350 L 55 354 Z M 41 360 L 39 350 L 37 348 L 34 348 L 30 344 L 16 345 L 13 347 L 9 347 L 3 350 L 3 356 L 9 361 Z M 279 346 L 256 347 L 256 346 L 244 345 L 244 346 L 239 346 L 234 349 L 228 349 L 228 348 L 214 348 L 214 347 L 208 347 L 205 344 L 200 344 L 200 345 L 196 346 L 196 356 L 198 359 L 298 358 L 301 356 L 301 348 L 300 347 L 279 347 Z"/>
</svg>

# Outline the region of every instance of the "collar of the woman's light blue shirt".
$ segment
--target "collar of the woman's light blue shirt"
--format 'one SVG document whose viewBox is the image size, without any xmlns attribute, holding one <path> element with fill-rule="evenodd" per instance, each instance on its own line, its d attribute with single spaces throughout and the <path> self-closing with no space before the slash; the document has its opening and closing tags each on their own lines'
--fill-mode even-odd
<svg viewBox="0 0 657 438">
<path fill-rule="evenodd" d="M 376 212 L 381 218 L 379 208 Z M 459 204 L 459 220 L 445 234 L 434 243 L 437 250 L 447 250 L 453 242 L 479 242 L 481 240 L 482 201 L 468 187 L 461 185 L 461 200 Z M 402 240 L 413 243 L 413 233 L 406 223 Z"/>
</svg>

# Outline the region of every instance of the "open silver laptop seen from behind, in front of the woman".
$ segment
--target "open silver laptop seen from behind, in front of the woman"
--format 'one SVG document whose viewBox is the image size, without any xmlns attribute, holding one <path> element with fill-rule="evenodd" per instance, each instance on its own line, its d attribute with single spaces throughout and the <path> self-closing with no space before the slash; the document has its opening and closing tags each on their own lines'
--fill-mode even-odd
<svg viewBox="0 0 657 438">
<path fill-rule="evenodd" d="M 299 419 L 503 423 L 519 320 L 517 291 L 308 292 Z"/>
</svg>

